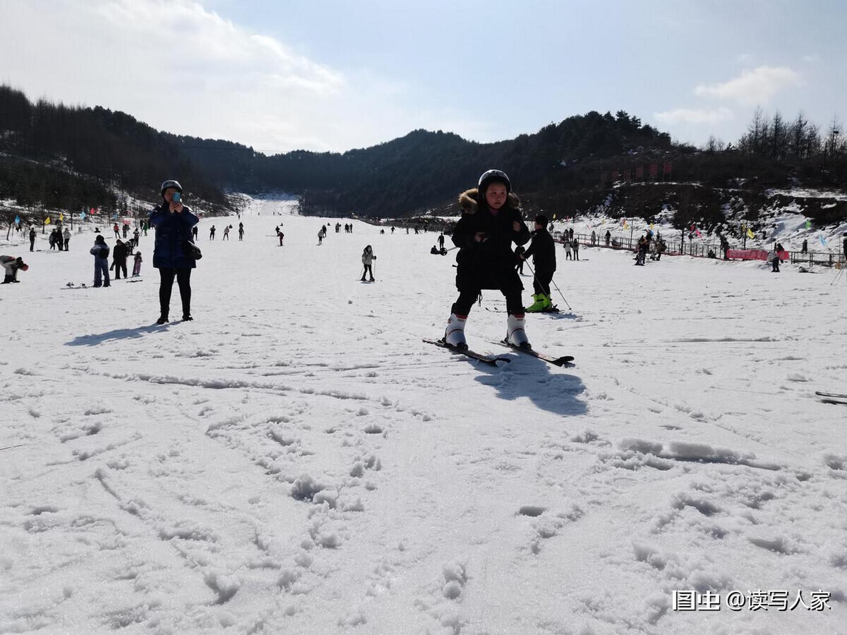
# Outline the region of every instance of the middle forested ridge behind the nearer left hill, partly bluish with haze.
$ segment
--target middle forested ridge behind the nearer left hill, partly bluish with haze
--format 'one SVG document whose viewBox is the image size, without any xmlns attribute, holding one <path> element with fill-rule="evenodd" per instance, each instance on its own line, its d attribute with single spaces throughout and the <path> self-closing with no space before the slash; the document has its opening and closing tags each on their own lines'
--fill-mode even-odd
<svg viewBox="0 0 847 635">
<path fill-rule="evenodd" d="M 667 133 L 623 112 L 570 117 L 533 135 L 496 143 L 415 130 L 344 153 L 296 151 L 267 157 L 226 141 L 173 139 L 219 186 L 296 193 L 313 213 L 381 217 L 449 204 L 493 166 L 507 171 L 521 192 L 581 189 L 587 180 L 595 185 L 595 168 L 604 159 L 629 152 L 665 157 L 673 150 Z"/>
</svg>

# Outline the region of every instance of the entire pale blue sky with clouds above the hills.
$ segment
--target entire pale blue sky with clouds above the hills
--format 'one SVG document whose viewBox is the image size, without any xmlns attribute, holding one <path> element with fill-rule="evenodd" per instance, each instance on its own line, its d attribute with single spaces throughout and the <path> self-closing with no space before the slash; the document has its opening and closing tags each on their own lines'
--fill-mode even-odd
<svg viewBox="0 0 847 635">
<path fill-rule="evenodd" d="M 263 152 L 619 109 L 697 145 L 847 116 L 847 3 L 3 0 L 0 81 Z"/>
</svg>

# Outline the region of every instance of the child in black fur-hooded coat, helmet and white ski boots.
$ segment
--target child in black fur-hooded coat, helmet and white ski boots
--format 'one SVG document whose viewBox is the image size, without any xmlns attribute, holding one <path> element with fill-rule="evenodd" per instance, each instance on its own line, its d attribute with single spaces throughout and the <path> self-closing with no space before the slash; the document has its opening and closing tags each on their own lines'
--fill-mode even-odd
<svg viewBox="0 0 847 635">
<path fill-rule="evenodd" d="M 523 284 L 515 269 L 512 242 L 525 245 L 529 228 L 518 211 L 520 201 L 512 193 L 509 177 L 501 170 L 488 170 L 476 188 L 462 192 L 462 218 L 453 231 L 456 257 L 457 301 L 451 306 L 444 339 L 446 344 L 467 348 L 465 321 L 483 289 L 498 289 L 506 296 L 509 344 L 529 348 L 524 331 Z"/>
</svg>

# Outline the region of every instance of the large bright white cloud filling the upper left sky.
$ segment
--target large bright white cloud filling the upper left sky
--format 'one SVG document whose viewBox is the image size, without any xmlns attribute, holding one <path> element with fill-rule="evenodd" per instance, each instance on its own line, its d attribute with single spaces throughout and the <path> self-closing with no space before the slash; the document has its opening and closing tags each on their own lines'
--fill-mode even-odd
<svg viewBox="0 0 847 635">
<path fill-rule="evenodd" d="M 158 130 L 286 152 L 441 127 L 402 105 L 408 86 L 331 68 L 193 0 L 0 0 L 0 23 L 0 82 Z"/>
</svg>

